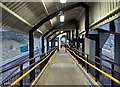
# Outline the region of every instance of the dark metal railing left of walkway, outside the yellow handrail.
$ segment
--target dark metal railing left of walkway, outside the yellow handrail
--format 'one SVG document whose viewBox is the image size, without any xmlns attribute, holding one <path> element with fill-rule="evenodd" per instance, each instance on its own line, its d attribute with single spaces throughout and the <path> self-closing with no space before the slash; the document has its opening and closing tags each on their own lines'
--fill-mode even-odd
<svg viewBox="0 0 120 87">
<path fill-rule="evenodd" d="M 32 58 L 32 59 L 25 60 L 25 61 L 21 62 L 20 64 L 15 64 L 15 65 L 13 65 L 13 66 L 10 67 L 10 68 L 4 69 L 2 72 L 6 72 L 6 71 L 9 71 L 9 70 L 17 67 L 17 68 L 19 68 L 19 71 L 16 72 L 14 75 L 9 76 L 9 78 L 3 80 L 2 83 L 0 83 L 0 86 L 2 86 L 2 87 L 8 86 L 9 84 L 11 84 L 11 83 L 14 82 L 15 80 L 17 80 L 20 76 L 22 76 L 24 73 L 26 73 L 31 66 L 36 65 L 36 64 L 39 63 L 40 61 L 44 60 L 44 58 L 47 57 L 47 56 L 51 53 L 51 51 L 53 51 L 54 49 L 55 49 L 55 48 L 52 48 L 52 49 L 50 49 L 48 52 L 46 52 L 46 53 L 44 53 L 44 54 L 40 54 L 40 55 L 38 55 L 38 56 L 35 56 L 35 57 Z M 35 63 L 33 63 L 33 64 L 31 64 L 31 65 L 29 65 L 29 66 L 27 66 L 27 67 L 25 67 L 25 68 L 23 69 L 23 64 L 29 63 L 31 60 L 34 60 L 34 59 L 36 59 L 36 58 L 38 58 L 38 57 L 40 57 L 39 60 L 35 61 Z M 37 70 L 40 71 L 43 67 L 44 67 L 44 64 L 43 64 L 42 67 L 38 67 L 38 69 L 36 68 L 36 71 L 37 71 Z M 13 72 L 14 72 L 14 71 L 13 71 Z M 27 78 L 24 79 L 24 81 L 21 80 L 18 85 L 19 85 L 19 86 L 23 86 L 23 85 L 26 85 L 26 84 L 29 85 L 29 84 L 30 84 L 29 81 L 28 81 L 29 78 L 30 78 L 30 77 L 28 76 Z M 27 80 L 26 80 L 26 79 L 27 79 Z M 27 82 L 27 83 L 25 83 L 25 82 Z"/>
</svg>

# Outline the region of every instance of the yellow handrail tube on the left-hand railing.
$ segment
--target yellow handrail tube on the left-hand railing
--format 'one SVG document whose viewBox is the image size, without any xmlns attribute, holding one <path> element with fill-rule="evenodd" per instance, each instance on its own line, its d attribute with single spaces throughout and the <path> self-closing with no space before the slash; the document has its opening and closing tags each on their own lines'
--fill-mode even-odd
<svg viewBox="0 0 120 87">
<path fill-rule="evenodd" d="M 54 50 L 53 50 L 54 51 Z M 53 52 L 52 51 L 52 52 Z M 52 53 L 51 52 L 51 53 Z M 50 55 L 51 53 L 46 57 L 44 58 L 42 61 L 40 61 L 38 64 L 36 64 L 34 67 L 32 67 L 30 70 L 28 70 L 25 74 L 23 74 L 21 77 L 19 77 L 17 80 L 15 80 L 10 86 L 8 87 L 13 87 L 15 84 L 17 84 L 20 80 L 22 80 L 24 77 L 26 77 L 30 72 L 32 72 L 36 67 L 38 67 L 42 62 L 44 62 Z"/>
</svg>

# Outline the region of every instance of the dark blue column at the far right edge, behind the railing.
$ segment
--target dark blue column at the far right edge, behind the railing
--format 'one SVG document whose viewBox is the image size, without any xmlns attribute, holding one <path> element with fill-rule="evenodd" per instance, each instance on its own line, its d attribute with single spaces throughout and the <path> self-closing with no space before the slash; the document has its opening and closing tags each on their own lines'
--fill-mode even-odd
<svg viewBox="0 0 120 87">
<path fill-rule="evenodd" d="M 118 25 L 115 26 L 114 21 L 110 22 L 110 30 L 115 32 L 115 29 L 117 29 L 117 28 L 120 29 L 120 26 L 118 26 Z M 114 35 L 114 60 L 115 60 L 115 63 L 120 65 L 120 35 L 117 35 L 117 34 Z M 114 66 L 113 69 L 120 72 L 119 66 Z M 114 76 L 116 79 L 118 79 L 120 81 L 120 74 L 112 72 L 112 76 Z M 113 81 L 112 81 L 112 84 L 114 85 L 114 87 L 119 86 L 118 84 L 114 83 Z"/>
</svg>

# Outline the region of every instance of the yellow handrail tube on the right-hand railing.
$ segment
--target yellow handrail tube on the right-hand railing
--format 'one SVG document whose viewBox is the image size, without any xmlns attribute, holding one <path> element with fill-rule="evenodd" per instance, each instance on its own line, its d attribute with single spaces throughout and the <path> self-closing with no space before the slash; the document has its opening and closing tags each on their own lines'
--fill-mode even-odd
<svg viewBox="0 0 120 87">
<path fill-rule="evenodd" d="M 70 49 L 69 49 L 70 50 Z M 70 50 L 74 55 L 76 55 L 75 52 L 73 52 L 72 50 Z M 88 64 L 89 66 L 91 66 L 92 68 L 96 69 L 97 71 L 99 71 L 100 73 L 102 73 L 104 76 L 108 77 L 109 79 L 113 80 L 114 82 L 120 84 L 120 81 L 117 80 L 116 78 L 112 77 L 111 75 L 109 75 L 108 73 L 102 71 L 101 69 L 97 68 L 96 66 L 92 65 L 91 63 L 87 62 L 86 60 L 84 60 L 83 58 L 79 57 L 78 55 L 76 55 L 79 59 L 81 59 L 82 61 L 84 61 L 86 64 Z"/>
</svg>

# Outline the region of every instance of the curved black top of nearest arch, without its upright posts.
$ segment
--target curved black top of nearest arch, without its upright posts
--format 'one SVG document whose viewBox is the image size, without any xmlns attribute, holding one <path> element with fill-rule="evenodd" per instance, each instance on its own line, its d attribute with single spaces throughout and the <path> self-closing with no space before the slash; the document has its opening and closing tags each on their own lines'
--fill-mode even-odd
<svg viewBox="0 0 120 87">
<path fill-rule="evenodd" d="M 76 8 L 76 7 L 80 7 L 82 6 L 83 8 L 85 8 L 85 10 L 87 10 L 89 8 L 89 6 L 83 2 L 79 2 L 79 3 L 75 3 L 73 5 L 70 5 L 70 6 L 66 6 L 64 8 L 61 8 L 57 11 L 55 11 L 54 13 L 48 15 L 47 17 L 45 17 L 44 19 L 42 19 L 40 22 L 38 22 L 30 31 L 29 33 L 33 33 L 35 30 L 37 30 L 42 24 L 44 24 L 45 22 L 49 21 L 50 19 L 52 19 L 53 17 L 57 16 L 60 11 L 63 11 L 63 12 L 66 12 L 68 10 L 71 10 L 73 8 Z"/>
</svg>

